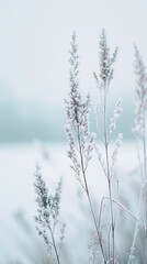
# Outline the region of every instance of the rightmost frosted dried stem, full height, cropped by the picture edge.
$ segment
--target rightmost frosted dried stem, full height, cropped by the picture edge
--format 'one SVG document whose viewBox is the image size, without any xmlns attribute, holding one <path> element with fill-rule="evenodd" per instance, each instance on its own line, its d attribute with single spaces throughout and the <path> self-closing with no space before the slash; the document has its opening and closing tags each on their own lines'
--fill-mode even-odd
<svg viewBox="0 0 147 264">
<path fill-rule="evenodd" d="M 146 150 L 146 112 L 147 112 L 147 73 L 146 66 L 144 64 L 143 57 L 139 54 L 138 48 L 135 46 L 135 74 L 136 74 L 136 117 L 135 117 L 135 129 L 134 132 L 136 133 L 136 140 L 140 140 L 143 143 L 143 165 L 140 162 L 139 156 L 139 147 L 138 151 L 138 158 L 139 158 L 139 167 L 140 167 L 140 175 L 143 178 L 143 184 L 147 179 L 147 150 Z M 145 188 L 144 196 L 144 238 L 145 238 L 145 249 L 144 249 L 144 262 L 147 263 L 147 187 Z M 140 208 L 139 208 L 140 210 Z M 134 235 L 135 237 L 135 235 Z"/>
</svg>

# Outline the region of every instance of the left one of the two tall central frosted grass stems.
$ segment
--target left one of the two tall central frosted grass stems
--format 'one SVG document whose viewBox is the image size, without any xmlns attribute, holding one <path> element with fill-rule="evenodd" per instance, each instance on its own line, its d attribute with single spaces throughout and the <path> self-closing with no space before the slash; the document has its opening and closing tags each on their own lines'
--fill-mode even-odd
<svg viewBox="0 0 147 264">
<path fill-rule="evenodd" d="M 71 168 L 86 191 L 95 232 L 101 248 L 102 257 L 104 264 L 106 258 L 103 250 L 103 241 L 98 230 L 98 222 L 95 212 L 93 210 L 89 186 L 87 183 L 87 168 L 89 161 L 91 160 L 91 153 L 93 150 L 94 134 L 89 132 L 89 108 L 90 108 L 90 96 L 83 100 L 79 92 L 79 55 L 78 45 L 76 40 L 76 33 L 74 32 L 71 38 L 71 51 L 70 51 L 70 91 L 68 100 L 65 100 L 66 113 L 68 124 L 66 125 L 66 134 L 69 141 L 68 156 L 71 160 Z"/>
</svg>

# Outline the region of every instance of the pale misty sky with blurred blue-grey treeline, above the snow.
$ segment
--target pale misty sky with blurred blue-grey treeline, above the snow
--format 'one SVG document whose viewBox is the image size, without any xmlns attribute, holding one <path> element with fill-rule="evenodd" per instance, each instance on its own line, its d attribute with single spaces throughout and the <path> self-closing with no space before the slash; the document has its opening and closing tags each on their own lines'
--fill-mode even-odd
<svg viewBox="0 0 147 264">
<path fill-rule="evenodd" d="M 112 52 L 118 46 L 110 116 L 122 97 L 118 131 L 132 139 L 133 45 L 137 44 L 147 62 L 146 10 L 145 0 L 0 0 L 0 142 L 66 139 L 70 37 L 76 30 L 80 89 L 83 95 L 90 91 L 94 105 L 98 90 L 92 73 L 99 70 L 102 28 Z"/>
</svg>

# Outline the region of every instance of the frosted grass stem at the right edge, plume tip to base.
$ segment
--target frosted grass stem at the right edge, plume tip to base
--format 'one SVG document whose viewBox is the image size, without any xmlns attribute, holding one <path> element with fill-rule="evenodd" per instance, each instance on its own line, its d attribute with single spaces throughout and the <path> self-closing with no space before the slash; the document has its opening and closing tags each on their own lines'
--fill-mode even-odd
<svg viewBox="0 0 147 264">
<path fill-rule="evenodd" d="M 138 162 L 140 168 L 140 176 L 143 180 L 144 191 L 140 191 L 139 212 L 142 215 L 142 226 L 144 230 L 144 263 L 147 263 L 147 70 L 143 56 L 135 45 L 135 75 L 136 75 L 136 90 L 135 90 L 135 128 L 133 132 L 136 135 Z M 143 158 L 143 161 L 142 161 Z M 137 226 L 133 239 L 133 245 L 129 253 L 129 260 L 135 254 L 135 240 L 137 239 Z M 129 263 L 132 263 L 129 261 Z"/>
</svg>

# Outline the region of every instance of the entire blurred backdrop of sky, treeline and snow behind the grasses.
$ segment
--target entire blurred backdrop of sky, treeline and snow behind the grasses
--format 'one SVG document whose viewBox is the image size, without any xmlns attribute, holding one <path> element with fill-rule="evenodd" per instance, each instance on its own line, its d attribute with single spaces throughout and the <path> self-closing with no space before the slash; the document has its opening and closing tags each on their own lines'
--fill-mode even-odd
<svg viewBox="0 0 147 264">
<path fill-rule="evenodd" d="M 79 88 L 83 96 L 90 92 L 92 98 L 91 132 L 95 132 L 94 106 L 99 92 L 93 72 L 99 72 L 102 29 L 111 51 L 118 46 L 108 116 L 112 117 L 115 102 L 122 97 L 123 112 L 115 131 L 124 134 L 115 166 L 117 193 L 122 204 L 137 216 L 142 183 L 136 144 L 131 141 L 135 111 L 133 63 L 134 43 L 147 63 L 146 25 L 146 0 L 0 0 L 0 264 L 49 263 L 43 261 L 47 252 L 33 218 L 37 209 L 36 162 L 42 166 L 49 194 L 64 177 L 60 210 L 60 219 L 67 223 L 64 263 L 88 263 L 87 242 L 93 226 L 87 197 L 70 168 L 64 131 L 74 31 L 80 55 Z M 112 142 L 110 150 L 113 147 Z M 103 176 L 93 153 L 88 180 L 97 211 L 101 198 L 108 196 Z M 118 230 L 122 243 L 118 249 L 125 256 L 135 222 L 129 216 L 118 221 L 117 227 L 123 227 Z"/>
</svg>

